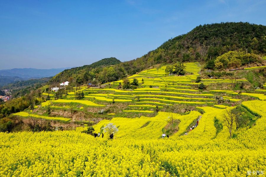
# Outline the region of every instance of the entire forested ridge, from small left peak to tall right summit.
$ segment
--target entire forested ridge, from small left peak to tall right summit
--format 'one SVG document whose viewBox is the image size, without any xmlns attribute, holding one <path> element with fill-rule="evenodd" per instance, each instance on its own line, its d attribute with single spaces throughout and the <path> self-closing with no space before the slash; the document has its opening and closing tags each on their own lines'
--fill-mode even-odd
<svg viewBox="0 0 266 177">
<path fill-rule="evenodd" d="M 266 26 L 250 24 L 248 22 L 226 22 L 215 24 L 204 24 L 195 27 L 184 35 L 179 35 L 164 42 L 157 49 L 148 52 L 140 58 L 116 64 L 112 67 L 98 64 L 85 65 L 82 67 L 65 70 L 51 80 L 59 82 L 73 80 L 76 83 L 99 81 L 101 83 L 116 81 L 126 74 L 132 75 L 136 72 L 149 68 L 150 65 L 158 63 L 180 62 L 206 62 L 208 68 L 214 67 L 214 60 L 229 51 L 244 51 L 250 54 L 247 57 L 256 58 L 266 55 Z M 254 53 L 254 54 L 253 54 Z M 235 54 L 235 53 L 234 53 Z M 255 55 L 257 54 L 257 55 Z M 242 53 L 236 53 L 242 57 Z M 246 56 L 245 56 L 246 57 Z M 239 62 L 239 61 L 238 61 Z"/>
</svg>

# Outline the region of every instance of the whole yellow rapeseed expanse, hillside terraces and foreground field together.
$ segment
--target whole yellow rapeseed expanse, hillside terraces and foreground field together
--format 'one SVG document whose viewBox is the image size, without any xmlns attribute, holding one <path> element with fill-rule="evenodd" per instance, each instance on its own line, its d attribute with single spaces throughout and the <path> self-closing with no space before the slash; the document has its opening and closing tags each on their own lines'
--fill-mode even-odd
<svg viewBox="0 0 266 177">
<path fill-rule="evenodd" d="M 199 63 L 185 63 L 185 67 L 185 76 L 168 76 L 166 66 L 129 76 L 130 81 L 133 78 L 139 81 L 137 89 L 117 89 L 122 81 L 97 89 L 74 88 L 64 99 L 51 98 L 33 111 L 14 114 L 25 119 L 79 124 L 76 131 L 0 133 L 0 155 L 10 164 L 7 168 L 0 165 L 0 174 L 247 176 L 247 171 L 264 171 L 266 95 L 263 89 L 254 92 L 230 89 L 232 82 L 249 83 L 245 78 L 202 79 L 196 83 Z M 207 89 L 199 89 L 201 83 Z M 83 92 L 84 96 L 77 99 L 77 92 Z M 44 113 L 48 107 L 53 116 Z M 233 124 L 230 137 L 224 115 L 237 107 L 241 108 L 241 115 L 249 115 L 249 123 L 244 127 Z M 63 114 L 66 116 L 60 116 Z M 108 123 L 118 128 L 112 141 L 108 132 L 103 131 Z M 104 137 L 80 133 L 89 130 L 90 125 L 95 133 L 104 133 Z M 162 138 L 162 134 L 168 134 L 169 138 Z M 21 137 L 25 139 L 21 141 Z M 7 146 L 10 138 L 12 144 Z M 15 147 L 20 148 L 19 153 Z M 31 153 L 33 147 L 37 149 Z M 53 156 L 48 158 L 51 153 Z"/>
</svg>

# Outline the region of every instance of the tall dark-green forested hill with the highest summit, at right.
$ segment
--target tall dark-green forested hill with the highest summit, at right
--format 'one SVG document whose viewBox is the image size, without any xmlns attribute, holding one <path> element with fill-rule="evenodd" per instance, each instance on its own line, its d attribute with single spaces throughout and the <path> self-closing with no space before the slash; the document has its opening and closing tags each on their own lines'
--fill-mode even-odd
<svg viewBox="0 0 266 177">
<path fill-rule="evenodd" d="M 147 57 L 159 63 L 175 60 L 206 61 L 216 58 L 230 50 L 244 50 L 248 53 L 266 53 L 266 26 L 227 22 L 205 24 L 194 28 L 185 35 L 177 36 L 164 42 Z M 155 57 L 154 57 L 155 56 Z"/>
</svg>

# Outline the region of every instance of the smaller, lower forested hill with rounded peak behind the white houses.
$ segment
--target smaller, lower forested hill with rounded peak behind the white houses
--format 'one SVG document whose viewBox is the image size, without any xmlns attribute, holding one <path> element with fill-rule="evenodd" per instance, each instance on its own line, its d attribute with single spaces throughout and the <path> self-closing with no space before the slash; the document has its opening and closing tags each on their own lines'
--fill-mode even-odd
<svg viewBox="0 0 266 177">
<path fill-rule="evenodd" d="M 56 76 L 54 76 L 49 83 L 56 83 L 56 82 L 64 82 L 67 80 L 72 80 L 72 79 L 76 79 L 78 76 L 80 76 L 80 78 L 86 79 L 86 77 L 90 77 L 90 71 L 93 70 L 96 73 L 100 72 L 103 70 L 104 67 L 106 66 L 110 66 L 110 65 L 115 65 L 121 63 L 120 60 L 111 57 L 111 58 L 103 58 L 102 60 L 96 61 L 90 65 L 84 65 L 84 66 L 80 66 L 80 67 L 76 67 L 76 68 L 71 68 L 71 69 L 66 69 L 64 71 L 62 71 L 61 73 L 58 73 Z M 89 73 L 90 72 L 90 73 Z M 93 76 L 92 77 L 96 77 Z M 93 79 L 93 78 L 92 78 Z"/>
</svg>

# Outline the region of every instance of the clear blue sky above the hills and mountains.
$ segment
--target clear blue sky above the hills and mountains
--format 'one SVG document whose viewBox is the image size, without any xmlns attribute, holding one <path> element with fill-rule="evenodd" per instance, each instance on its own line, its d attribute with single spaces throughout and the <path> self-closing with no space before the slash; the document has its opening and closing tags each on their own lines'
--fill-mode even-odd
<svg viewBox="0 0 266 177">
<path fill-rule="evenodd" d="M 2 1 L 0 69 L 132 60 L 200 24 L 266 25 L 266 1 Z"/>
</svg>

